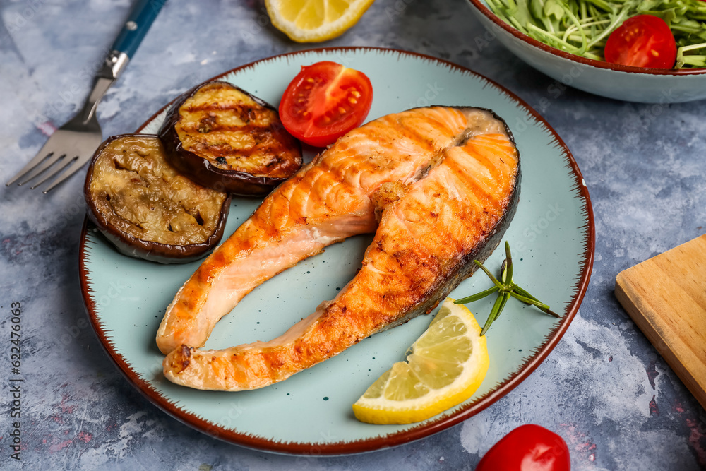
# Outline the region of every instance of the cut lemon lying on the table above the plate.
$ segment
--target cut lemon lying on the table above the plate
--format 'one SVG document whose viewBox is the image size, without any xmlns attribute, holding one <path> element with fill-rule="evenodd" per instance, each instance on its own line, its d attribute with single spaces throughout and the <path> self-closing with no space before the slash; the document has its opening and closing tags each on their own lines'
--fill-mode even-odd
<svg viewBox="0 0 706 471">
<path fill-rule="evenodd" d="M 265 0 L 275 28 L 297 42 L 320 42 L 342 35 L 373 0 Z"/>
</svg>

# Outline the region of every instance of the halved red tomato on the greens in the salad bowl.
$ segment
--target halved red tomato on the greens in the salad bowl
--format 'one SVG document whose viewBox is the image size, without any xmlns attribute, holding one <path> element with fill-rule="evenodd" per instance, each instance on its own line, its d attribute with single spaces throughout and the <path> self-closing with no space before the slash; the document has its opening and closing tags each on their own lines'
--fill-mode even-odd
<svg viewBox="0 0 706 471">
<path fill-rule="evenodd" d="M 611 32 L 605 57 L 612 64 L 624 66 L 672 68 L 676 61 L 676 41 L 662 18 L 633 16 Z"/>
</svg>

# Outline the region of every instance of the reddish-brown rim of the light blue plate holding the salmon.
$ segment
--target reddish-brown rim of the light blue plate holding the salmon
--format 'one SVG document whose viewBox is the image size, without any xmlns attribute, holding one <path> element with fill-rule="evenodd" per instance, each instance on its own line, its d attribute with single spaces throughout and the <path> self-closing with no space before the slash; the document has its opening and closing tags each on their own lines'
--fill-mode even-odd
<svg viewBox="0 0 706 471">
<path fill-rule="evenodd" d="M 258 61 L 253 61 L 250 64 L 245 64 L 243 66 L 233 68 L 232 70 L 229 70 L 225 73 L 220 74 L 219 76 L 214 77 L 212 80 L 222 78 L 223 76 L 226 76 L 229 73 L 242 71 L 247 68 L 253 68 L 257 64 L 261 64 L 263 62 L 280 59 L 283 56 L 292 57 L 300 54 L 311 54 L 311 52 L 325 54 L 331 52 L 340 53 L 359 51 L 388 52 L 397 53 L 400 56 L 416 56 L 426 61 L 436 62 L 437 64 L 441 64 L 453 70 L 461 71 L 462 73 L 470 73 L 474 76 L 481 78 L 481 80 L 486 81 L 486 83 L 488 83 L 489 85 L 497 88 L 499 91 L 501 91 L 501 93 L 507 95 L 511 100 L 514 100 L 515 102 L 519 103 L 522 107 L 525 108 L 528 114 L 532 115 L 532 117 L 537 119 L 537 121 L 546 126 L 546 129 L 554 136 L 556 143 L 558 143 L 558 145 L 563 149 L 563 153 L 566 157 L 568 167 L 573 170 L 573 174 L 575 176 L 575 186 L 580 191 L 580 196 L 583 200 L 583 203 L 585 204 L 586 220 L 583 226 L 585 227 L 585 229 L 587 229 L 586 240 L 584 241 L 585 251 L 581 263 L 580 276 L 577 278 L 574 285 L 575 292 L 573 295 L 573 299 L 570 304 L 568 304 L 568 306 L 566 307 L 565 314 L 561 319 L 561 323 L 559 323 L 558 326 L 556 326 L 556 328 L 549 334 L 544 345 L 539 350 L 537 350 L 537 352 L 534 352 L 532 357 L 527 360 L 525 366 L 521 367 L 520 370 L 516 371 L 515 374 L 513 374 L 512 376 L 506 378 L 503 383 L 498 385 L 495 390 L 491 391 L 491 393 L 484 396 L 484 398 L 481 398 L 476 403 L 467 405 L 467 407 L 463 408 L 462 410 L 455 412 L 454 415 L 440 417 L 436 420 L 433 420 L 432 422 L 422 423 L 419 426 L 414 427 L 412 429 L 408 429 L 406 431 L 399 431 L 384 436 L 376 436 L 371 439 L 363 439 L 358 441 L 341 441 L 332 443 L 280 442 L 270 439 L 264 439 L 259 436 L 252 436 L 250 434 L 239 433 L 234 429 L 226 429 L 224 427 L 219 427 L 202 419 L 201 417 L 198 417 L 197 415 L 191 412 L 183 410 L 177 407 L 177 405 L 175 405 L 174 403 L 172 403 L 171 400 L 165 398 L 163 395 L 157 392 L 155 388 L 152 388 L 150 383 L 144 381 L 136 374 L 135 371 L 131 369 L 130 365 L 126 362 L 126 359 L 124 359 L 124 357 L 116 351 L 114 345 L 112 345 L 112 342 L 109 340 L 107 333 L 103 330 L 102 325 L 100 324 L 97 318 L 97 311 L 95 309 L 95 304 L 91 296 L 90 276 L 86 268 L 86 262 L 88 261 L 88 256 L 86 253 L 86 236 L 88 234 L 89 228 L 88 218 L 86 218 L 83 221 L 83 228 L 81 229 L 79 247 L 79 276 L 81 294 L 83 297 L 83 303 L 86 312 L 88 313 L 88 318 L 90 319 L 90 324 L 95 330 L 95 333 L 97 334 L 101 345 L 104 347 L 106 352 L 109 354 L 109 357 L 111 357 L 112 361 L 116 364 L 121 373 L 126 376 L 128 382 L 135 386 L 140 391 L 140 393 L 142 393 L 145 398 L 147 398 L 152 404 L 156 405 L 164 412 L 167 412 L 167 414 L 171 415 L 172 417 L 178 419 L 180 422 L 183 422 L 184 424 L 187 424 L 190 427 L 193 427 L 194 429 L 197 429 L 198 431 L 201 431 L 205 434 L 213 436 L 216 439 L 235 443 L 240 446 L 245 446 L 246 448 L 254 448 L 256 450 L 268 451 L 273 453 L 286 453 L 295 455 L 346 455 L 352 453 L 376 451 L 383 448 L 390 448 L 393 446 L 398 446 L 404 443 L 409 443 L 411 441 L 422 439 L 432 434 L 436 434 L 439 431 L 448 429 L 448 427 L 452 427 L 453 425 L 458 424 L 463 420 L 472 417 L 473 415 L 476 415 L 477 413 L 481 412 L 481 410 L 484 410 L 486 407 L 489 407 L 497 400 L 502 398 L 504 395 L 509 393 L 510 390 L 513 390 L 522 381 L 524 381 L 525 378 L 527 378 L 527 376 L 529 376 L 532 371 L 534 371 L 534 369 L 537 369 L 537 366 L 539 366 L 539 364 L 544 361 L 547 355 L 549 355 L 549 352 L 551 352 L 551 350 L 554 350 L 556 344 L 559 342 L 559 340 L 561 340 L 561 337 L 566 332 L 566 329 L 568 328 L 569 324 L 576 315 L 578 308 L 582 302 L 582 299 L 586 293 L 593 267 L 593 258 L 595 251 L 595 227 L 592 204 L 582 174 L 578 168 L 576 161 L 573 158 L 573 155 L 571 155 L 570 151 L 568 150 L 568 147 L 561 140 L 556 131 L 554 131 L 554 129 L 549 125 L 549 123 L 547 123 L 544 118 L 542 118 L 534 109 L 532 109 L 530 105 L 527 105 L 524 100 L 522 100 L 520 97 L 517 97 L 517 95 L 510 92 L 509 90 L 505 89 L 503 86 L 498 85 L 498 83 L 491 81 L 489 78 L 481 76 L 477 72 L 471 71 L 468 68 L 459 66 L 450 61 L 438 59 L 436 57 L 429 56 L 426 54 L 419 54 L 417 52 L 408 52 L 402 49 L 388 49 L 383 47 L 322 47 L 316 49 L 306 49 L 297 52 L 289 52 L 285 54 L 278 54 L 276 56 L 260 59 Z M 167 109 L 167 107 L 169 107 L 169 104 L 162 107 L 162 109 L 153 114 L 152 117 L 145 121 L 145 124 L 140 126 L 140 128 L 136 132 L 140 132 L 142 129 L 144 129 L 144 127 L 150 121 L 152 121 L 159 114 L 164 112 L 164 109 Z"/>
</svg>

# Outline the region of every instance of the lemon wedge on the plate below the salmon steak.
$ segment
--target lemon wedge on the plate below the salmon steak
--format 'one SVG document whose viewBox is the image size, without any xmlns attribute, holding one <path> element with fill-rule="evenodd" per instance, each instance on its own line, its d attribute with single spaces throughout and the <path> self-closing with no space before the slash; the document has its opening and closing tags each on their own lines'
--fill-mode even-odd
<svg viewBox="0 0 706 471">
<path fill-rule="evenodd" d="M 466 306 L 447 298 L 410 347 L 353 405 L 361 422 L 410 424 L 470 398 L 488 372 L 486 338 Z"/>
</svg>

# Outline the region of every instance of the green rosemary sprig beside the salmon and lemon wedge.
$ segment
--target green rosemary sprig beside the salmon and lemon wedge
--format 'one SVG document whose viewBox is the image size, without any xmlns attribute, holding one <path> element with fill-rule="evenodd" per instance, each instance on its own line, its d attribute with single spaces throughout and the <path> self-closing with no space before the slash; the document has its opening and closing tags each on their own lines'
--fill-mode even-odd
<svg viewBox="0 0 706 471">
<path fill-rule="evenodd" d="M 510 299 L 510 297 L 519 299 L 525 304 L 536 306 L 537 309 L 546 314 L 549 314 L 550 316 L 554 316 L 556 318 L 560 317 L 558 314 L 556 314 L 556 312 L 549 309 L 549 306 L 539 301 L 539 299 L 532 296 L 532 294 L 527 292 L 527 290 L 515 283 L 515 280 L 513 280 L 513 255 L 510 253 L 510 242 L 505 241 L 505 260 L 503 261 L 503 266 L 501 266 L 500 268 L 500 280 L 495 278 L 493 276 L 493 273 L 490 273 L 490 270 L 488 270 L 488 268 L 485 268 L 483 263 L 480 263 L 477 260 L 474 260 L 474 263 L 478 266 L 478 268 L 483 270 L 486 275 L 488 275 L 488 278 L 490 278 L 490 280 L 493 282 L 493 287 L 490 287 L 487 290 L 481 291 L 477 294 L 472 294 L 471 296 L 457 299 L 453 304 L 467 304 L 469 302 L 474 302 L 478 301 L 479 299 L 483 299 L 484 297 L 490 296 L 495 292 L 498 293 L 498 297 L 495 300 L 495 304 L 493 304 L 493 309 L 491 309 L 490 315 L 488 316 L 488 319 L 486 320 L 486 323 L 483 326 L 483 330 L 481 330 L 481 335 L 485 335 L 485 333 L 490 328 L 491 324 L 498 317 L 500 317 L 500 314 L 501 312 L 503 312 L 503 308 L 505 308 L 505 304 L 507 304 L 508 299 Z"/>
</svg>

